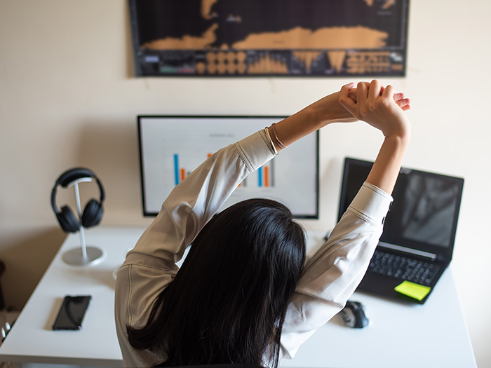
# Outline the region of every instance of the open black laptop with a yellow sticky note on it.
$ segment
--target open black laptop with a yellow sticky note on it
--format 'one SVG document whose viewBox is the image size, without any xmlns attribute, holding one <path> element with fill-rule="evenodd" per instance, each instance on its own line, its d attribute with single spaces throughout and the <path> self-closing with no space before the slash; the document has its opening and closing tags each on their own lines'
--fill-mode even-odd
<svg viewBox="0 0 491 368">
<path fill-rule="evenodd" d="M 338 219 L 373 162 L 345 158 Z M 384 232 L 358 291 L 424 304 L 452 260 L 464 179 L 401 168 Z"/>
</svg>

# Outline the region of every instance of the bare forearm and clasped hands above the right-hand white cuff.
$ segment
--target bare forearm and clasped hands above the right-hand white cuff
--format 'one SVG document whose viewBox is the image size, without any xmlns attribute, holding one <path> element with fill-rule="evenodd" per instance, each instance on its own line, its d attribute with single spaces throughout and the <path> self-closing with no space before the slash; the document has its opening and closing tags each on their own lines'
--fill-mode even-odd
<svg viewBox="0 0 491 368">
<path fill-rule="evenodd" d="M 354 83 L 341 89 L 339 104 L 353 116 L 366 121 L 379 129 L 385 139 L 367 182 L 386 193 L 392 193 L 401 163 L 410 138 L 410 122 L 404 111 L 409 109 L 409 101 L 401 106 L 394 99 L 394 88 L 383 88 L 379 81 L 358 83 L 356 102 L 350 97 Z"/>
</svg>

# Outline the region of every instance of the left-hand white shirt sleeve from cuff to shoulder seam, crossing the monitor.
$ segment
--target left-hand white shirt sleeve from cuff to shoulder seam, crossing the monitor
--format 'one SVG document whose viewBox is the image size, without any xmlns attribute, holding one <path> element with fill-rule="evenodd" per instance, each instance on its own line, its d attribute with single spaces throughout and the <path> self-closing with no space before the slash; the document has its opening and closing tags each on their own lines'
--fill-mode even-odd
<svg viewBox="0 0 491 368">
<path fill-rule="evenodd" d="M 144 258 L 153 266 L 175 264 L 238 184 L 275 155 L 267 132 L 260 130 L 210 156 L 175 186 L 126 263 Z"/>
</svg>

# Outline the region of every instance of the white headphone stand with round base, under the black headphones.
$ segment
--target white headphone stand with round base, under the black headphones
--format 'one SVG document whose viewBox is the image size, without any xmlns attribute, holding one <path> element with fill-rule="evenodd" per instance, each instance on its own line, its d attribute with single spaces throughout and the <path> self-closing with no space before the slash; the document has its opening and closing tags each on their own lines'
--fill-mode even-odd
<svg viewBox="0 0 491 368">
<path fill-rule="evenodd" d="M 75 200 L 76 200 L 76 211 L 79 212 L 79 224 L 80 224 L 80 248 L 74 248 L 69 250 L 63 254 L 63 260 L 67 264 L 73 264 L 76 266 L 85 266 L 88 264 L 96 264 L 102 260 L 102 250 L 98 247 L 87 247 L 86 238 L 83 233 L 82 226 L 82 210 L 80 205 L 80 192 L 79 192 L 79 183 L 81 182 L 92 182 L 91 177 L 82 177 L 81 179 L 76 179 L 68 186 L 73 186 L 75 189 Z"/>
</svg>

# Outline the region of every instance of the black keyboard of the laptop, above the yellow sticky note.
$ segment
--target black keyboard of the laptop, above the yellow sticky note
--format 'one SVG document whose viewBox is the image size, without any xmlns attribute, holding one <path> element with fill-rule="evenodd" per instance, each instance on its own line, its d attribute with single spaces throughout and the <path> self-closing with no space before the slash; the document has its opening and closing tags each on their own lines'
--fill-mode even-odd
<svg viewBox="0 0 491 368">
<path fill-rule="evenodd" d="M 376 250 L 368 266 L 368 271 L 386 275 L 399 280 L 408 280 L 429 286 L 437 275 L 440 266 L 431 262 L 419 261 L 396 254 Z"/>
</svg>

